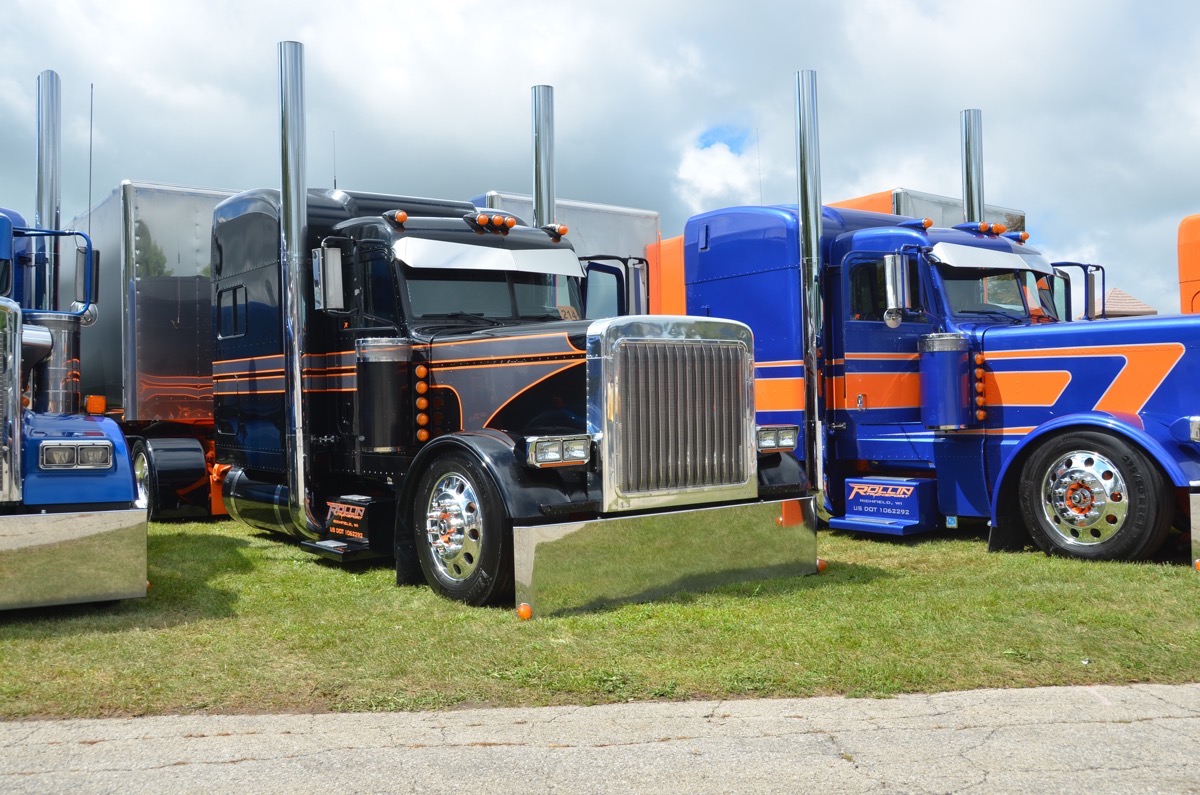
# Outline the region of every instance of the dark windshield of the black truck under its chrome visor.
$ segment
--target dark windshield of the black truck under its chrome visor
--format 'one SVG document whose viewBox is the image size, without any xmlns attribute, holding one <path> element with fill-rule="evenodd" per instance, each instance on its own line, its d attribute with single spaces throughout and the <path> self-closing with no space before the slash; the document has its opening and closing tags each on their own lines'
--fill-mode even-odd
<svg viewBox="0 0 1200 795">
<path fill-rule="evenodd" d="M 414 319 L 472 322 L 577 319 L 577 279 L 562 274 L 402 268 Z"/>
</svg>

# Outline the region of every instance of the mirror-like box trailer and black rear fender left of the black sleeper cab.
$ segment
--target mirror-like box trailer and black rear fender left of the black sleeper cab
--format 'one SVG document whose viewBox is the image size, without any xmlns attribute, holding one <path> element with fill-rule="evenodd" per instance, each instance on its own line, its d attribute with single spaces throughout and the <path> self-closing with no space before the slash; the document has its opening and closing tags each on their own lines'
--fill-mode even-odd
<svg viewBox="0 0 1200 795">
<path fill-rule="evenodd" d="M 130 438 L 151 519 L 223 514 L 210 476 L 212 210 L 232 191 L 124 181 L 73 228 L 100 252 L 100 312 L 83 328 L 83 395 Z"/>
</svg>

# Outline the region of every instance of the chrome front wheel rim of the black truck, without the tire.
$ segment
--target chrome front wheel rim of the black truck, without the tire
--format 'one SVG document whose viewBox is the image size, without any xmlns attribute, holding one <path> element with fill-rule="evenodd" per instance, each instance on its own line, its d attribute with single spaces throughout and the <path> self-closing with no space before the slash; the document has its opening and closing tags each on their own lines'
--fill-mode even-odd
<svg viewBox="0 0 1200 795">
<path fill-rule="evenodd" d="M 475 489 L 457 472 L 443 474 L 425 512 L 425 538 L 439 578 L 461 582 L 479 567 L 484 518 Z"/>
</svg>

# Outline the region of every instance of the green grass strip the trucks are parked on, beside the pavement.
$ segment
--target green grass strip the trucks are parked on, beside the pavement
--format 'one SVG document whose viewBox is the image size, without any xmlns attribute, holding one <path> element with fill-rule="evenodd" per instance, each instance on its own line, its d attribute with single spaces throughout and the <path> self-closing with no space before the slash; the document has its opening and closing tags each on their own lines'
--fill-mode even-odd
<svg viewBox="0 0 1200 795">
<path fill-rule="evenodd" d="M 818 576 L 521 622 L 232 521 L 151 525 L 146 599 L 0 614 L 0 718 L 886 697 L 1200 681 L 1200 575 L 822 532 Z"/>
</svg>

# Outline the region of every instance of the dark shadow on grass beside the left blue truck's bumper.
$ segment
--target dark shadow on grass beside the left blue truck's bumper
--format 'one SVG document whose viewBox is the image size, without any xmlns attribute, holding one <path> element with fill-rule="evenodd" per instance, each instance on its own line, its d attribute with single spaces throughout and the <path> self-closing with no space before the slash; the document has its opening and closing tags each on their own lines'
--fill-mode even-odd
<svg viewBox="0 0 1200 795">
<path fill-rule="evenodd" d="M 238 593 L 214 585 L 248 572 L 248 542 L 218 533 L 151 534 L 148 539 L 149 590 L 144 599 L 94 602 L 0 612 L 0 629 L 24 626 L 30 635 L 125 632 L 170 627 L 233 615 Z"/>
</svg>

